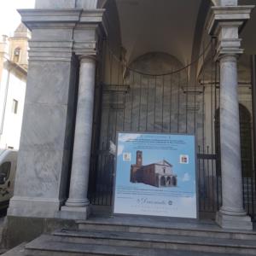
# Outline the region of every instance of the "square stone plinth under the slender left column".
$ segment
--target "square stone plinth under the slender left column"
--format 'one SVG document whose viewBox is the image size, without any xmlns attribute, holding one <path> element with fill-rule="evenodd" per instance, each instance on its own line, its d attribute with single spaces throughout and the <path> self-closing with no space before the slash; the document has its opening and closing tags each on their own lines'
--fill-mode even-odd
<svg viewBox="0 0 256 256">
<path fill-rule="evenodd" d="M 61 207 L 61 211 L 58 212 L 59 218 L 83 220 L 90 216 L 91 207 Z"/>
</svg>

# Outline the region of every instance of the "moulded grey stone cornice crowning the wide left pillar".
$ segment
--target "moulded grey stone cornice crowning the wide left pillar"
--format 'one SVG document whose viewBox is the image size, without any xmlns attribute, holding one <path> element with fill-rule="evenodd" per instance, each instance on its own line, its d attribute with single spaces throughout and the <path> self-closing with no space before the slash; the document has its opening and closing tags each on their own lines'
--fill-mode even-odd
<svg viewBox="0 0 256 256">
<path fill-rule="evenodd" d="M 33 29 L 72 29 L 69 38 L 62 40 L 53 37 L 44 41 L 46 32 L 35 41 L 30 41 L 30 60 L 68 61 L 72 53 L 76 55 L 96 55 L 97 39 L 106 35 L 105 9 L 22 9 L 19 10 L 22 21 Z M 65 43 L 65 45 L 64 45 Z M 59 47 L 59 48 L 58 48 Z"/>
</svg>

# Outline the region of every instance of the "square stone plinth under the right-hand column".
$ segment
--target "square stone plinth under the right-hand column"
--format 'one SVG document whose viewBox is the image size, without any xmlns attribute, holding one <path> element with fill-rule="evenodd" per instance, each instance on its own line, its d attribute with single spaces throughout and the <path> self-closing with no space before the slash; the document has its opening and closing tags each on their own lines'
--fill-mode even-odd
<svg viewBox="0 0 256 256">
<path fill-rule="evenodd" d="M 248 216 L 232 216 L 217 212 L 216 223 L 226 230 L 253 230 L 253 223 Z"/>
</svg>

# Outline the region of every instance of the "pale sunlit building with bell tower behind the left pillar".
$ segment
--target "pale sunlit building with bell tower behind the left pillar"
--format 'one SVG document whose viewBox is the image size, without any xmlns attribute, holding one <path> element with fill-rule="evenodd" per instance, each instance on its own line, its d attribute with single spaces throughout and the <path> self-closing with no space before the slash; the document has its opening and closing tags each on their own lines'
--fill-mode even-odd
<svg viewBox="0 0 256 256">
<path fill-rule="evenodd" d="M 18 149 L 26 93 L 30 33 L 20 24 L 0 39 L 0 148 Z"/>
</svg>

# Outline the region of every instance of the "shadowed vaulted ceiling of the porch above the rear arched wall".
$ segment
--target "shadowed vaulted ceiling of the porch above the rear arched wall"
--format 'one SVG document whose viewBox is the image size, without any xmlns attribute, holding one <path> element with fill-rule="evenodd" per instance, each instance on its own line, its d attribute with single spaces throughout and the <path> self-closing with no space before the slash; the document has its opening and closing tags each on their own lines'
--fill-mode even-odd
<svg viewBox="0 0 256 256">
<path fill-rule="evenodd" d="M 206 1 L 206 0 L 203 0 Z M 117 0 L 127 61 L 148 52 L 165 52 L 191 61 L 201 0 Z"/>
</svg>

